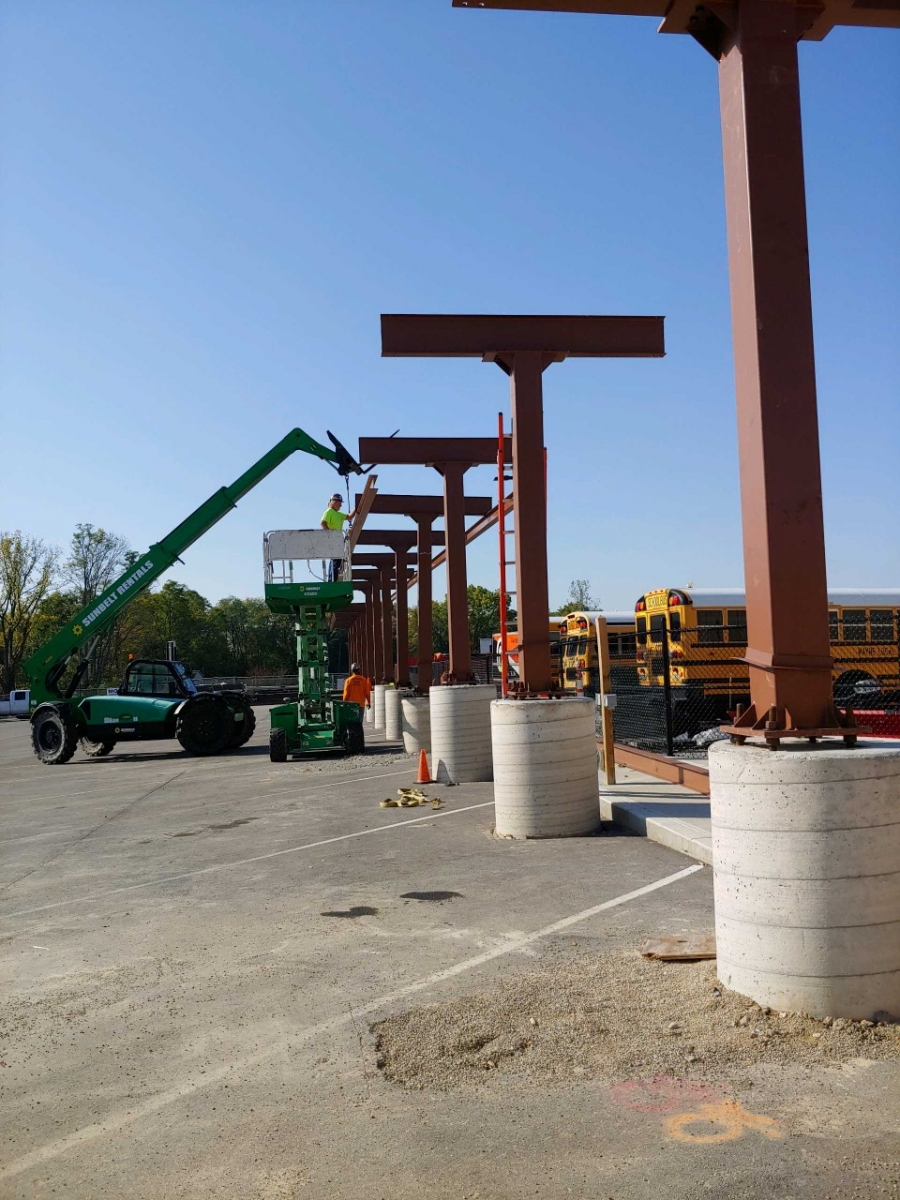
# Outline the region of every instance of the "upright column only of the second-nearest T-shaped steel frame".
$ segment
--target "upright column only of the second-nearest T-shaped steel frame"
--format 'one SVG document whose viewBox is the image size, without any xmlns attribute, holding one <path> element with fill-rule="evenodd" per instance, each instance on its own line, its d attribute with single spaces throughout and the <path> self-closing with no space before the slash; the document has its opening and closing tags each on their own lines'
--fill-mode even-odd
<svg viewBox="0 0 900 1200">
<path fill-rule="evenodd" d="M 528 691 L 550 691 L 547 488 L 544 460 L 546 359 L 517 353 L 509 360 L 512 404 L 512 497 L 516 514 L 516 612 L 520 677 Z"/>
</svg>

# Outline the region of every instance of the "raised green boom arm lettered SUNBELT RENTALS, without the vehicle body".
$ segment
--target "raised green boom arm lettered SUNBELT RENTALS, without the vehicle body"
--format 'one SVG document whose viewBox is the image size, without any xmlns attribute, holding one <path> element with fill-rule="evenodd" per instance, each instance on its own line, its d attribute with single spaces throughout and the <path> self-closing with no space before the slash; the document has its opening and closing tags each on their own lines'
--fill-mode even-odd
<svg viewBox="0 0 900 1200">
<path fill-rule="evenodd" d="M 155 583 L 179 556 L 212 528 L 222 517 L 230 512 L 241 497 L 246 496 L 266 475 L 278 467 L 292 454 L 301 450 L 330 463 L 344 478 L 350 474 L 362 474 L 362 468 L 329 432 L 332 448 L 322 445 L 304 430 L 295 428 L 271 448 L 242 475 L 228 487 L 220 487 L 209 499 L 186 517 L 180 524 L 155 542 L 146 553 L 136 558 L 106 592 L 91 600 L 59 632 L 42 646 L 25 662 L 25 674 L 31 686 L 31 707 L 46 701 L 64 700 L 71 696 L 78 686 L 94 638 L 113 623 L 142 592 Z M 79 652 L 83 653 L 82 667 L 76 671 L 65 694 L 60 690 L 60 680 L 68 662 Z"/>
</svg>

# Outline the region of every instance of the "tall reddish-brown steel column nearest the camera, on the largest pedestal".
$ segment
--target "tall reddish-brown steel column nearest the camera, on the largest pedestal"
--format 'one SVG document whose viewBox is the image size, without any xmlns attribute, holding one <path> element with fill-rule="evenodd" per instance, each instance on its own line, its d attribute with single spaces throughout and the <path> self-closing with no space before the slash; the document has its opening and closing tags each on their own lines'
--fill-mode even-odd
<svg viewBox="0 0 900 1200">
<path fill-rule="evenodd" d="M 739 724 L 834 730 L 793 4 L 742 0 L 719 91 L 752 701 Z"/>
</svg>

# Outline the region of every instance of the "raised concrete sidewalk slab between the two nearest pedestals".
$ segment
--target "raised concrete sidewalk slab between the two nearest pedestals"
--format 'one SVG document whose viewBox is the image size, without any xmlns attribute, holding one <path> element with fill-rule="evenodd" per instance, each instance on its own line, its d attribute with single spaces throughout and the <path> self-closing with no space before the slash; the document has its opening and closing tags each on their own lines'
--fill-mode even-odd
<svg viewBox="0 0 900 1200">
<path fill-rule="evenodd" d="M 616 780 L 612 787 L 600 784 L 605 821 L 712 865 L 713 830 L 706 796 L 630 767 L 617 767 Z"/>
</svg>

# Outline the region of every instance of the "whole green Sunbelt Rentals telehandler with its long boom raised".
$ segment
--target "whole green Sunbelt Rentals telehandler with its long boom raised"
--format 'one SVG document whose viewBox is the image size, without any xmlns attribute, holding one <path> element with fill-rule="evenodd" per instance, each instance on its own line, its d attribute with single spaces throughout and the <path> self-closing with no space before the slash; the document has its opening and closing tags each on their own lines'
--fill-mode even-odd
<svg viewBox="0 0 900 1200">
<path fill-rule="evenodd" d="M 68 762 L 79 742 L 85 754 L 98 758 L 108 755 L 120 740 L 178 738 L 185 750 L 210 755 L 242 745 L 251 737 L 256 718 L 246 696 L 236 691 L 198 692 L 180 662 L 131 662 L 116 695 L 78 698 L 74 694 L 88 670 L 97 635 L 292 454 L 301 450 L 322 458 L 343 476 L 362 473 L 337 438 L 330 432 L 328 436 L 334 449 L 316 442 L 302 430 L 292 430 L 230 487 L 210 496 L 172 533 L 136 559 L 106 592 L 31 655 L 25 664 L 31 684 L 31 743 L 41 762 Z M 341 590 L 340 596 L 332 598 L 340 607 L 350 602 L 350 584 L 328 587 Z M 344 599 L 348 589 L 350 596 Z M 314 601 L 313 605 L 318 611 L 320 605 Z M 323 708 L 320 715 L 324 721 L 328 712 Z M 340 714 L 344 742 L 352 715 Z M 358 720 L 359 716 L 358 712 Z"/>
</svg>

